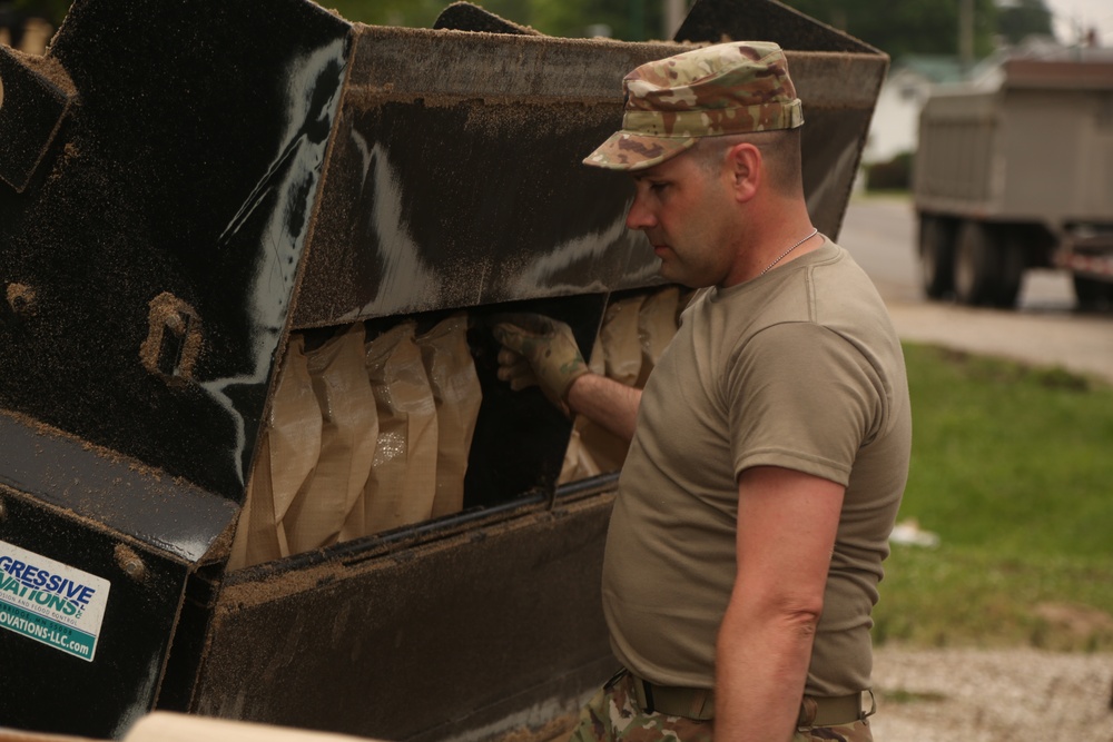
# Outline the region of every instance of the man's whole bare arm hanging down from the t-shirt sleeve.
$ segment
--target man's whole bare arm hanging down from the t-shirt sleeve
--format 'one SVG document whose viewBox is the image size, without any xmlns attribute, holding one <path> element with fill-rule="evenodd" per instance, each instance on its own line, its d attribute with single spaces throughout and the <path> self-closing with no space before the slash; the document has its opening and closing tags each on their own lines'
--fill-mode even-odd
<svg viewBox="0 0 1113 742">
<path fill-rule="evenodd" d="M 787 742 L 796 728 L 844 487 L 755 466 L 738 478 L 738 574 L 716 646 L 716 739 Z"/>
</svg>

